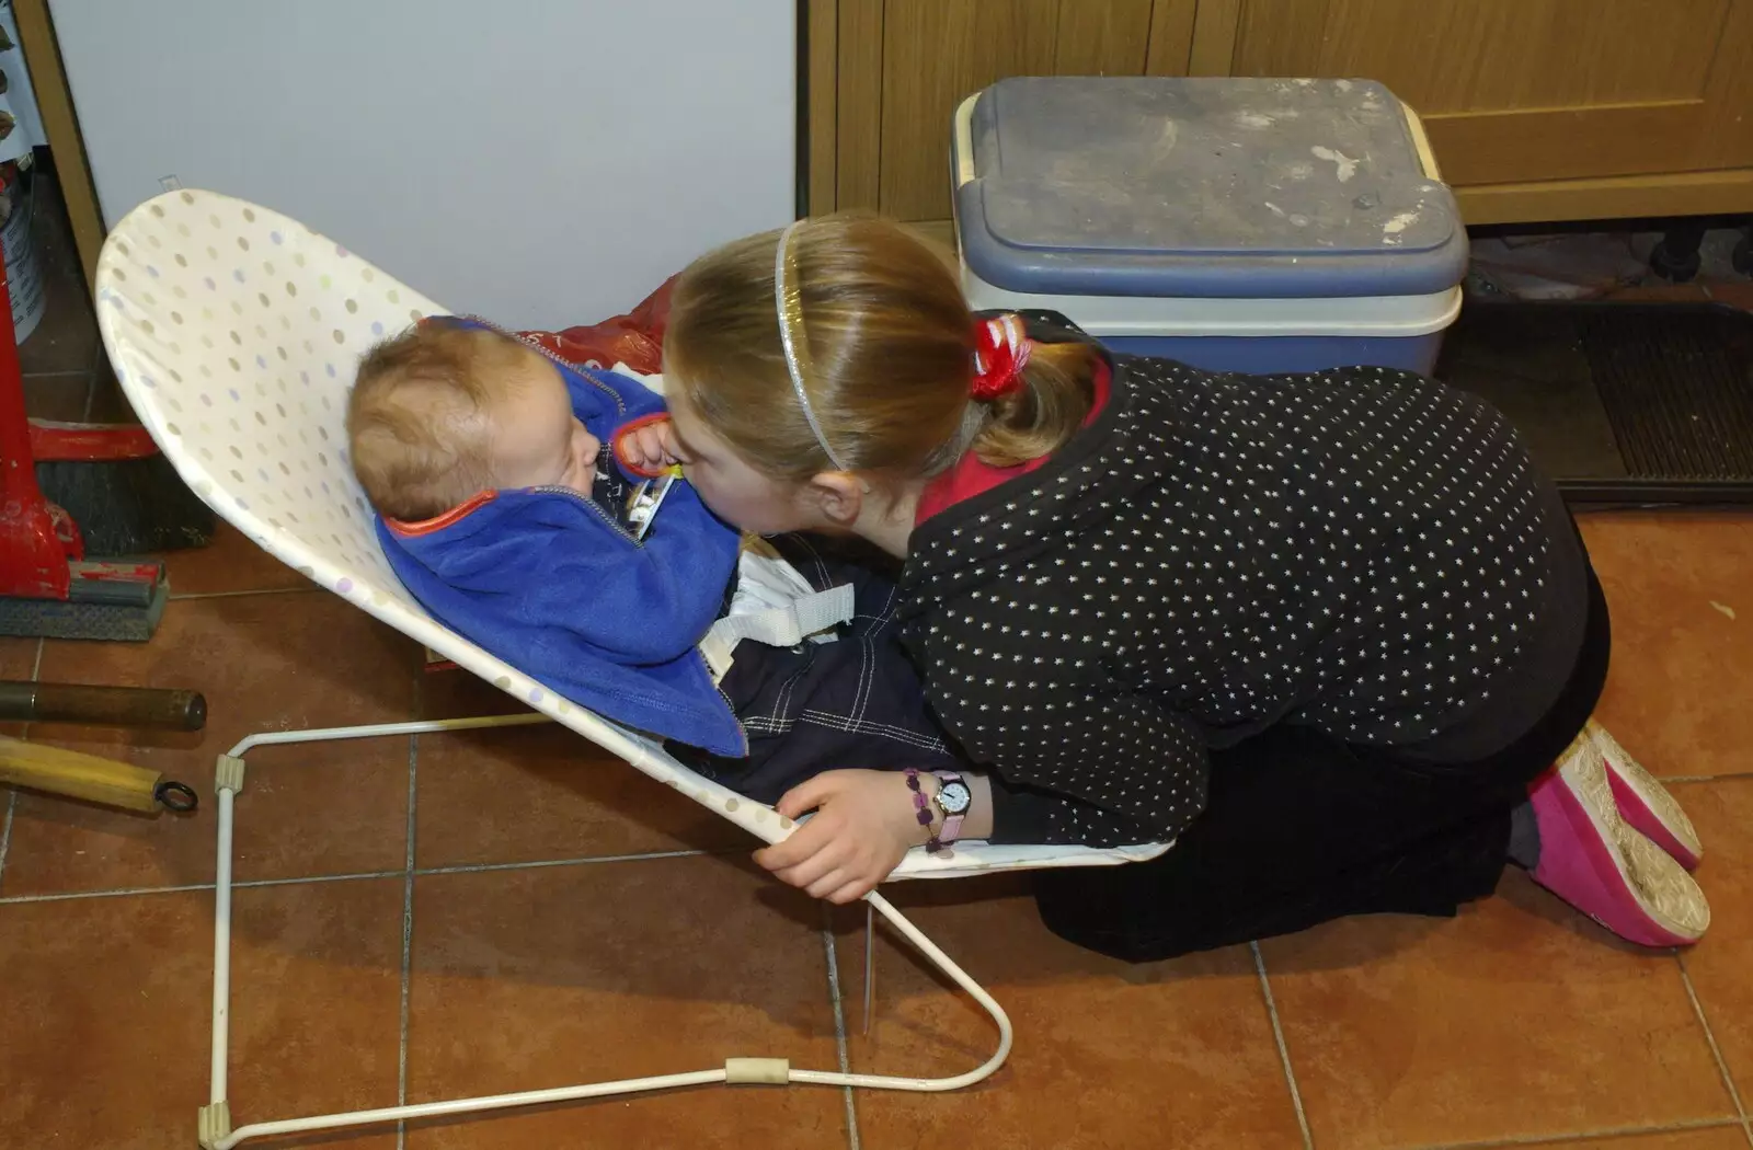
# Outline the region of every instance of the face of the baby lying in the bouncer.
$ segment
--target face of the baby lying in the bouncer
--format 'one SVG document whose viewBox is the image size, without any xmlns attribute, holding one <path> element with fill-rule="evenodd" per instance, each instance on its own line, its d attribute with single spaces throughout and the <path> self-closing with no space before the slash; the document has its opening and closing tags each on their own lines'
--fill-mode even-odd
<svg viewBox="0 0 1753 1150">
<path fill-rule="evenodd" d="M 522 351 L 489 412 L 494 484 L 589 494 L 601 444 L 571 414 L 559 368 L 538 352 Z"/>
</svg>

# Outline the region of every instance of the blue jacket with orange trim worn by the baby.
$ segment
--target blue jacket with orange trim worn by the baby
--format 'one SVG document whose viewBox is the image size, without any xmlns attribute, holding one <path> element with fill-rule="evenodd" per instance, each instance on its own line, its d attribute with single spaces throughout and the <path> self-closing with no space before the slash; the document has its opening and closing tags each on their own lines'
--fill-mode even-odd
<svg viewBox="0 0 1753 1150">
<path fill-rule="evenodd" d="M 624 375 L 554 365 L 605 445 L 600 470 L 615 466 L 608 445 L 622 426 L 664 410 Z M 670 489 L 643 540 L 608 503 L 563 487 L 484 491 L 426 522 L 380 517 L 377 536 L 433 617 L 536 682 L 624 726 L 749 754 L 696 650 L 724 605 L 736 531 L 687 484 Z"/>
</svg>

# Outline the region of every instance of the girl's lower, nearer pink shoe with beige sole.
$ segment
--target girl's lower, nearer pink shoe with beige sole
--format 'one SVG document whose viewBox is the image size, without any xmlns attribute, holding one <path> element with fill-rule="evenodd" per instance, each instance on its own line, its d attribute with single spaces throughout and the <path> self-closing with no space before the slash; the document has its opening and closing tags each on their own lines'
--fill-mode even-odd
<svg viewBox="0 0 1753 1150">
<path fill-rule="evenodd" d="M 1620 815 L 1592 740 L 1571 743 L 1529 801 L 1539 824 L 1534 882 L 1643 947 L 1686 947 L 1704 936 L 1711 926 L 1704 891 Z"/>
</svg>

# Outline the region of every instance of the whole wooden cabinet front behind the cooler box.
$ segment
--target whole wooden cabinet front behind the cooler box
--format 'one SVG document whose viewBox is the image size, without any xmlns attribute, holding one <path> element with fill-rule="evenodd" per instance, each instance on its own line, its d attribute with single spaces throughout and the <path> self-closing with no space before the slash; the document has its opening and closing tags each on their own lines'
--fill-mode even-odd
<svg viewBox="0 0 1753 1150">
<path fill-rule="evenodd" d="M 947 219 L 950 114 L 969 93 L 1029 74 L 1378 79 L 1425 117 L 1476 223 L 1753 210 L 1753 0 L 808 9 L 817 212 Z"/>
</svg>

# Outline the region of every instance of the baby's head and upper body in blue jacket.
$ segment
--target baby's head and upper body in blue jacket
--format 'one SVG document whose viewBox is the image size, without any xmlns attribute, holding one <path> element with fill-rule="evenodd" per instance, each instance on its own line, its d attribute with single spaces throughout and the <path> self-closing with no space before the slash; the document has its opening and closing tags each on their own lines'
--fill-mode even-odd
<svg viewBox="0 0 1753 1150">
<path fill-rule="evenodd" d="M 633 480 L 668 461 L 664 419 L 638 380 L 435 317 L 365 354 L 347 438 L 384 557 L 428 612 L 621 724 L 742 756 L 696 650 L 738 533 L 680 482 L 649 529 L 629 514 Z"/>
</svg>

